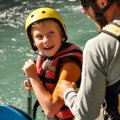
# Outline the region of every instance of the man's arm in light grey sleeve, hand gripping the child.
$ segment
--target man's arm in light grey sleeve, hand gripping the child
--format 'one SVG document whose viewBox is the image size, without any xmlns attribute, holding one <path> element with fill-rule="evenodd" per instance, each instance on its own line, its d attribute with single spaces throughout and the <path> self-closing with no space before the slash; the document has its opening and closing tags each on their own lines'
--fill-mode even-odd
<svg viewBox="0 0 120 120">
<path fill-rule="evenodd" d="M 59 88 L 61 91 L 66 91 L 64 93 L 65 104 L 77 120 L 97 118 L 105 97 L 106 76 L 101 66 L 104 57 L 99 55 L 101 54 L 99 47 L 97 45 L 93 47 L 93 44 L 95 44 L 94 41 L 90 42 L 84 49 L 82 80 L 78 93 L 73 89 L 72 83 L 71 86 L 70 83 L 66 83 Z"/>
</svg>

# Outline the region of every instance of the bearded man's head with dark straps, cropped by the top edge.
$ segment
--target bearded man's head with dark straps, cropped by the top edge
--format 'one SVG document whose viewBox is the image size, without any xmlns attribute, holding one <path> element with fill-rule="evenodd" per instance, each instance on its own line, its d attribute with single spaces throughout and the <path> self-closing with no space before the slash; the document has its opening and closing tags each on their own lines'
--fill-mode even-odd
<svg viewBox="0 0 120 120">
<path fill-rule="evenodd" d="M 111 14 L 116 11 L 113 6 L 120 9 L 120 0 L 80 0 L 80 2 L 83 13 L 95 20 L 100 29 L 115 18 L 115 14 Z"/>
</svg>

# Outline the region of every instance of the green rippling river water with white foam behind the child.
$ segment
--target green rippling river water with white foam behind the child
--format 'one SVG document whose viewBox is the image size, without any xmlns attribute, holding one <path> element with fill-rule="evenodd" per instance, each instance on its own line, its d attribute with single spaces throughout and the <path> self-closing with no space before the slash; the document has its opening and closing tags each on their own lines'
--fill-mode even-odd
<svg viewBox="0 0 120 120">
<path fill-rule="evenodd" d="M 33 56 L 24 23 L 28 14 L 38 7 L 53 7 L 59 11 L 67 27 L 68 40 L 84 49 L 86 41 L 98 31 L 95 24 L 81 12 L 78 2 L 68 0 L 0 0 L 0 104 L 26 111 L 26 79 L 21 68 Z M 35 102 L 34 93 L 33 104 Z M 44 120 L 39 108 L 37 118 Z"/>
</svg>

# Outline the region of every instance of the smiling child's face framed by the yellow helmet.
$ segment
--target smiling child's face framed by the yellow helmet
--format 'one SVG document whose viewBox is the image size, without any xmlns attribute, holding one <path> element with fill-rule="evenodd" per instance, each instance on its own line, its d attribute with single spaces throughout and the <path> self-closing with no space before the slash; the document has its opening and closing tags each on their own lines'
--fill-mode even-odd
<svg viewBox="0 0 120 120">
<path fill-rule="evenodd" d="M 61 30 L 54 21 L 44 21 L 32 28 L 32 37 L 42 54 L 54 56 L 62 44 Z"/>
</svg>

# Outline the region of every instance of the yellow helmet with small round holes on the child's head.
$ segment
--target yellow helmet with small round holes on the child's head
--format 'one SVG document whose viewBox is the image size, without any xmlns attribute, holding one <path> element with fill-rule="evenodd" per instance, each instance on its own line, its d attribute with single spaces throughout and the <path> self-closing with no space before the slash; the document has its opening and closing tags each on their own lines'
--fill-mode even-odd
<svg viewBox="0 0 120 120">
<path fill-rule="evenodd" d="M 26 34 L 27 34 L 30 46 L 34 51 L 36 51 L 37 48 L 34 44 L 34 41 L 32 40 L 31 25 L 37 21 L 41 21 L 45 19 L 51 19 L 57 22 L 60 25 L 61 30 L 63 31 L 64 40 L 67 40 L 66 27 L 61 15 L 52 8 L 48 8 L 48 7 L 38 8 L 29 14 L 25 24 Z"/>
</svg>

